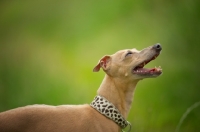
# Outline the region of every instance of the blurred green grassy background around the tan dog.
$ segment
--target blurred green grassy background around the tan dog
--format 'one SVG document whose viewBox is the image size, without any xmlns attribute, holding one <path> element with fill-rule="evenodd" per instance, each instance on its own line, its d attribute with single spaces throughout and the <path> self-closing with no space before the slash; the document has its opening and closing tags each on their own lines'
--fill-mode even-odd
<svg viewBox="0 0 200 132">
<path fill-rule="evenodd" d="M 200 1 L 10 0 L 0 2 L 0 111 L 30 104 L 90 103 L 104 77 L 98 60 L 157 42 L 128 120 L 133 132 L 173 132 L 200 101 Z M 180 132 L 200 131 L 200 107 Z"/>
</svg>

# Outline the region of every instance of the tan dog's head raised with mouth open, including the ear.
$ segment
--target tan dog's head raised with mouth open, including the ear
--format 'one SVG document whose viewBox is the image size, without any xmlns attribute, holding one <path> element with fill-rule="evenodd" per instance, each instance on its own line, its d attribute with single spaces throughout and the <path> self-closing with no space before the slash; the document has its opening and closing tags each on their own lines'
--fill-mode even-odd
<svg viewBox="0 0 200 132">
<path fill-rule="evenodd" d="M 141 51 L 136 49 L 120 50 L 113 55 L 101 58 L 93 71 L 98 72 L 102 68 L 109 76 L 130 77 L 134 80 L 157 77 L 162 73 L 161 67 L 144 68 L 144 66 L 156 59 L 161 50 L 160 44 L 155 44 Z"/>
</svg>

